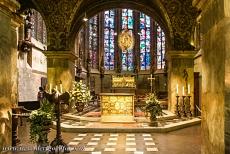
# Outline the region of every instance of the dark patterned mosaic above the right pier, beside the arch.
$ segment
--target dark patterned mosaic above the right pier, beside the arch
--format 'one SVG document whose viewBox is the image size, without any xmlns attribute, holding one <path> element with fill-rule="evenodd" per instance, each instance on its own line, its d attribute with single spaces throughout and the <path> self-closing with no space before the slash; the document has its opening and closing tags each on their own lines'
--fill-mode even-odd
<svg viewBox="0 0 230 154">
<path fill-rule="evenodd" d="M 191 50 L 189 44 L 195 26 L 198 10 L 192 0 L 161 0 L 167 10 L 174 33 L 174 49 Z"/>
</svg>

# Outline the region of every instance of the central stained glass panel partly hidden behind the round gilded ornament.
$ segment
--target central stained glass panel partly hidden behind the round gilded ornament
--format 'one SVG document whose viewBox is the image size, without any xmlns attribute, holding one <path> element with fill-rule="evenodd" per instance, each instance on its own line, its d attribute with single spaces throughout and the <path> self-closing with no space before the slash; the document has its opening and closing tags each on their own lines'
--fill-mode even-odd
<svg viewBox="0 0 230 154">
<path fill-rule="evenodd" d="M 133 19 L 133 10 L 122 9 L 121 17 L 122 30 L 129 30 L 133 33 L 134 19 Z M 128 49 L 122 51 L 122 70 L 131 71 L 133 70 L 133 50 Z"/>
</svg>

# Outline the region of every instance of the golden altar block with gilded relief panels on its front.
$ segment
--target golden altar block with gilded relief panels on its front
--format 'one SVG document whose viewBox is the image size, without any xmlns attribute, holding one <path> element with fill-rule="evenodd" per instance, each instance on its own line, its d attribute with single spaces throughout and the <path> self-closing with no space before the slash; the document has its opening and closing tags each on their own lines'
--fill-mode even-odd
<svg viewBox="0 0 230 154">
<path fill-rule="evenodd" d="M 101 93 L 101 122 L 135 122 L 133 93 Z"/>
</svg>

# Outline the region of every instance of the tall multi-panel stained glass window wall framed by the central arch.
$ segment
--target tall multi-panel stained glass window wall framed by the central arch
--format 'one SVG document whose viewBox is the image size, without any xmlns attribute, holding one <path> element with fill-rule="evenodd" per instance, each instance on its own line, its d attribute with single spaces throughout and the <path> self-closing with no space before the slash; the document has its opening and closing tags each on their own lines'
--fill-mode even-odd
<svg viewBox="0 0 230 154">
<path fill-rule="evenodd" d="M 103 64 L 107 71 L 164 69 L 165 33 L 154 19 L 131 9 L 107 10 L 91 18 L 88 26 L 88 49 L 92 68 L 98 68 L 100 59 L 104 62 L 100 64 Z M 136 44 L 133 48 L 119 49 L 117 42 L 120 34 L 125 31 L 132 33 Z M 99 41 L 99 38 L 103 39 Z M 98 58 L 99 55 L 103 55 L 103 59 L 102 56 Z M 134 58 L 137 58 L 136 61 Z"/>
</svg>

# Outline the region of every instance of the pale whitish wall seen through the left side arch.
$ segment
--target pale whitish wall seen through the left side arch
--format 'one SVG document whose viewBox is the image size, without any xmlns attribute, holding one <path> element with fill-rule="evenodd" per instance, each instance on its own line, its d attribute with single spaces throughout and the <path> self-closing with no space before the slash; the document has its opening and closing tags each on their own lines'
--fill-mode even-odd
<svg viewBox="0 0 230 154">
<path fill-rule="evenodd" d="M 38 48 L 39 42 L 33 41 L 36 47 L 32 52 L 20 53 L 18 58 L 18 92 L 19 102 L 37 101 L 38 88 L 41 86 L 41 78 L 47 77 L 47 61 L 42 50 Z M 31 60 L 31 63 L 28 62 Z M 31 65 L 29 65 L 31 64 Z"/>
</svg>

